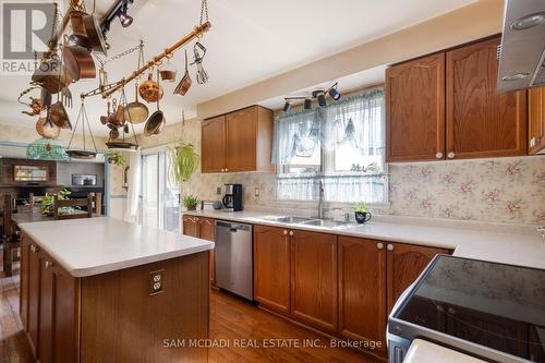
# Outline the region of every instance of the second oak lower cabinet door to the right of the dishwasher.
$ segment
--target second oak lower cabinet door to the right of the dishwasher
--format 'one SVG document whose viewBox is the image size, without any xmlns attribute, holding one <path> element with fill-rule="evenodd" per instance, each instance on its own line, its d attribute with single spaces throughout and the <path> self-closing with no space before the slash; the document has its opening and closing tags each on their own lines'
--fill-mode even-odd
<svg viewBox="0 0 545 363">
<path fill-rule="evenodd" d="M 337 331 L 337 235 L 291 232 L 291 314 L 316 328 Z"/>
</svg>

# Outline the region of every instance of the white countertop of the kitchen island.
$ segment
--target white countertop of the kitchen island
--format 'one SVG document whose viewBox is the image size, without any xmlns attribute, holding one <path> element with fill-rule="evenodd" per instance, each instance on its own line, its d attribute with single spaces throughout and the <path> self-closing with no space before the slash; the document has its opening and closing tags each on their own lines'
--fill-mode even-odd
<svg viewBox="0 0 545 363">
<path fill-rule="evenodd" d="M 86 277 L 214 249 L 214 243 L 107 217 L 19 225 L 74 277 Z"/>
</svg>

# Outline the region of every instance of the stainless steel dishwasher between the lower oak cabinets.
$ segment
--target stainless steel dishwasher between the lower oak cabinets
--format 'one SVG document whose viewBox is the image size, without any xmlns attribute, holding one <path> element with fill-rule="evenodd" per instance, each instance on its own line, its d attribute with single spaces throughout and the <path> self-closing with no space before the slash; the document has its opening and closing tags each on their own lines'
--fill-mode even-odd
<svg viewBox="0 0 545 363">
<path fill-rule="evenodd" d="M 216 220 L 216 285 L 254 300 L 252 225 Z"/>
</svg>

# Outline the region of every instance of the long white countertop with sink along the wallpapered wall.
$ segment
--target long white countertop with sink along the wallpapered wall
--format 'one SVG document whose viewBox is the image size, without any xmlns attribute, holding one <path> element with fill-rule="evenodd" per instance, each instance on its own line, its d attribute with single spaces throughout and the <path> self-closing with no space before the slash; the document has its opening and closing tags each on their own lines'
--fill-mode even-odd
<svg viewBox="0 0 545 363">
<path fill-rule="evenodd" d="M 261 218 L 272 214 L 259 210 L 234 213 L 198 210 L 184 211 L 184 215 L 446 247 L 455 250 L 455 256 L 545 268 L 545 258 L 543 258 L 545 240 L 540 237 L 533 226 L 380 216 L 374 217 L 365 225 L 351 223 L 327 228 L 263 220 Z M 277 214 L 277 216 L 280 215 Z"/>
</svg>

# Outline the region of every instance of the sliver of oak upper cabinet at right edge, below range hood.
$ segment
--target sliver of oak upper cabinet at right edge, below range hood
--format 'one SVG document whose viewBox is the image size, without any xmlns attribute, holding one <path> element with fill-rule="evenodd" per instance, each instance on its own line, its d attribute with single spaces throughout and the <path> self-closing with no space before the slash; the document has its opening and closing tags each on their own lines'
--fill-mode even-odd
<svg viewBox="0 0 545 363">
<path fill-rule="evenodd" d="M 528 154 L 534 155 L 545 149 L 545 87 L 531 88 L 528 96 Z"/>
</svg>

